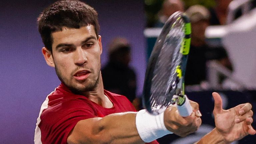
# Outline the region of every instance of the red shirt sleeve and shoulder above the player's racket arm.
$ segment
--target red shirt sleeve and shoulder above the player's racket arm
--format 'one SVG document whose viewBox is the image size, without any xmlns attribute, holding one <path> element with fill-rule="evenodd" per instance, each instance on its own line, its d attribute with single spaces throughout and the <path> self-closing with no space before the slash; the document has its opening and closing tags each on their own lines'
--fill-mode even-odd
<svg viewBox="0 0 256 144">
<path fill-rule="evenodd" d="M 58 99 L 52 101 L 56 102 L 39 115 L 38 127 L 41 140 L 45 143 L 66 143 L 68 134 L 77 122 L 98 117 L 93 105 L 82 96 L 67 99 L 59 94 Z"/>
</svg>

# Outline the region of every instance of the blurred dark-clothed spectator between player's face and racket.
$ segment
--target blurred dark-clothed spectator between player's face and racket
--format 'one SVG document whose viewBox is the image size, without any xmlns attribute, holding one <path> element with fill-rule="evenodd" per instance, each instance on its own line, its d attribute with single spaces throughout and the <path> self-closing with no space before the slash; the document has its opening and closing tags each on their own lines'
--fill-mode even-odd
<svg viewBox="0 0 256 144">
<path fill-rule="evenodd" d="M 114 38 L 108 49 L 109 62 L 101 70 L 104 89 L 126 96 L 136 107 L 136 75 L 129 66 L 130 43 L 125 38 Z"/>
</svg>

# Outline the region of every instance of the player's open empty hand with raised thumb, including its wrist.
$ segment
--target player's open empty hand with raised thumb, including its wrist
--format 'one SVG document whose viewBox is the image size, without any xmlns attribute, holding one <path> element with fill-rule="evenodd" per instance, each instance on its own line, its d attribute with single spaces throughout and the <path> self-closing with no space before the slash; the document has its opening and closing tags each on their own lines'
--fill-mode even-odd
<svg viewBox="0 0 256 144">
<path fill-rule="evenodd" d="M 213 93 L 212 95 L 214 98 L 213 114 L 216 128 L 196 144 L 230 144 L 248 134 L 255 134 L 255 130 L 251 126 L 253 122 L 251 104 L 240 104 L 229 110 L 223 110 L 220 95 L 218 93 Z"/>
</svg>

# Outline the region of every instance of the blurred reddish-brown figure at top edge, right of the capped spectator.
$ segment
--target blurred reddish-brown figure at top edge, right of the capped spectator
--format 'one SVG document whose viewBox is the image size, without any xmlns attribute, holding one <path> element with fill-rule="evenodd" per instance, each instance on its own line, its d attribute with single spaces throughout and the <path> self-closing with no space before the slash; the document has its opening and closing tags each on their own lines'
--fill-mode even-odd
<svg viewBox="0 0 256 144">
<path fill-rule="evenodd" d="M 225 25 L 228 15 L 228 5 L 232 0 L 215 0 L 216 7 L 210 9 L 210 25 Z"/>
</svg>

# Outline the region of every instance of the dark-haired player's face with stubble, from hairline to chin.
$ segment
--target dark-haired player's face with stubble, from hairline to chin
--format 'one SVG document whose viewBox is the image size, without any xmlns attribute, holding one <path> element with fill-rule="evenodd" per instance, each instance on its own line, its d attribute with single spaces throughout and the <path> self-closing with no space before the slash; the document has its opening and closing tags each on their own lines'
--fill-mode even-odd
<svg viewBox="0 0 256 144">
<path fill-rule="evenodd" d="M 101 37 L 94 26 L 52 33 L 52 57 L 59 79 L 73 92 L 93 91 L 100 75 Z"/>
</svg>

